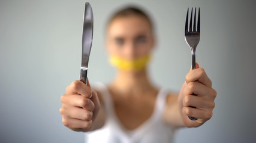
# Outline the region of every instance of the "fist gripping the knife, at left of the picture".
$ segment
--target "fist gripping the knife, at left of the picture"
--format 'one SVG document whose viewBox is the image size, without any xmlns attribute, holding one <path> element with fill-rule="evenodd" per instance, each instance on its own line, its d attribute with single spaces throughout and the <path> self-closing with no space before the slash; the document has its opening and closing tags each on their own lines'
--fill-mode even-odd
<svg viewBox="0 0 256 143">
<path fill-rule="evenodd" d="M 97 93 L 88 85 L 75 80 L 61 96 L 62 107 L 59 112 L 62 115 L 62 123 L 75 131 L 87 132 L 92 128 L 95 116 L 100 109 L 100 101 Z"/>
</svg>

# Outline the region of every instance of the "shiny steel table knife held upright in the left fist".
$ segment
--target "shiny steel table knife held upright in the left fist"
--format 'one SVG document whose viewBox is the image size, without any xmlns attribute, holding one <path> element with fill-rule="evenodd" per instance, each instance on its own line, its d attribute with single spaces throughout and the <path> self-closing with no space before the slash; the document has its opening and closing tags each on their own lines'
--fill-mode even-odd
<svg viewBox="0 0 256 143">
<path fill-rule="evenodd" d="M 83 15 L 82 35 L 82 64 L 80 70 L 80 81 L 87 85 L 88 61 L 92 47 L 92 35 L 94 32 L 94 17 L 89 2 L 85 2 L 85 14 Z"/>
</svg>

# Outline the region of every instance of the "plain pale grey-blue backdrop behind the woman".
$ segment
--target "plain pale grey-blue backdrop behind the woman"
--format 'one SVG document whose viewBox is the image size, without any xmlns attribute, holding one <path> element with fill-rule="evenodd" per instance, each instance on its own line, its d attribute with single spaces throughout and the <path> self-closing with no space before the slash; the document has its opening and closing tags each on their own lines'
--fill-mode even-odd
<svg viewBox="0 0 256 143">
<path fill-rule="evenodd" d="M 191 67 L 184 39 L 187 8 L 200 7 L 197 62 L 218 95 L 213 117 L 183 128 L 175 142 L 256 142 L 256 2 L 91 0 L 94 41 L 91 83 L 115 76 L 104 49 L 104 27 L 120 7 L 136 4 L 151 15 L 157 36 L 149 75 L 179 91 Z M 85 1 L 0 1 L 0 142 L 83 142 L 62 125 L 60 97 L 79 78 Z"/>
</svg>

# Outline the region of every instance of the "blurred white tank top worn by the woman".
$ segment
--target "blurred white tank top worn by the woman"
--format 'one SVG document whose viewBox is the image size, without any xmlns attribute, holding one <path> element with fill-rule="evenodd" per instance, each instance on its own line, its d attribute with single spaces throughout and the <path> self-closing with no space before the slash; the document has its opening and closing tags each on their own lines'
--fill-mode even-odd
<svg viewBox="0 0 256 143">
<path fill-rule="evenodd" d="M 170 143 L 173 142 L 174 127 L 162 121 L 167 89 L 158 92 L 152 115 L 136 129 L 125 128 L 115 114 L 112 97 L 103 83 L 97 83 L 94 89 L 101 92 L 107 113 L 103 128 L 85 133 L 88 143 Z"/>
</svg>

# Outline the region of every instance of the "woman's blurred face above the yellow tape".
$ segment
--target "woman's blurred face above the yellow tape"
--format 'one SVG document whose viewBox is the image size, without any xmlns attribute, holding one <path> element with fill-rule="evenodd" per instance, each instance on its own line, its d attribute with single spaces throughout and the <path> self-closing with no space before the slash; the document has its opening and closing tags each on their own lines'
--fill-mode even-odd
<svg viewBox="0 0 256 143">
<path fill-rule="evenodd" d="M 150 54 L 154 45 L 149 22 L 137 15 L 115 18 L 107 29 L 106 40 L 109 54 L 125 60 Z"/>
</svg>

